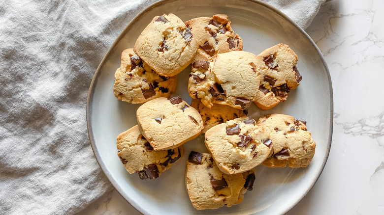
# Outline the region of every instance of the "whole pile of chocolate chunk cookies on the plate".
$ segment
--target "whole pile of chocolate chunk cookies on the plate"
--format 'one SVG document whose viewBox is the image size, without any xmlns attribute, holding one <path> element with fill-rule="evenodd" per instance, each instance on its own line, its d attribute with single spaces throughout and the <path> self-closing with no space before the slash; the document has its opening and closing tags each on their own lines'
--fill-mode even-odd
<svg viewBox="0 0 384 215">
<path fill-rule="evenodd" d="M 305 167 L 316 143 L 306 122 L 271 114 L 248 118 L 252 103 L 270 109 L 287 100 L 302 80 L 297 56 L 285 44 L 255 55 L 224 14 L 183 22 L 156 16 L 123 51 L 114 94 L 137 109 L 137 125 L 117 138 L 118 156 L 129 173 L 155 179 L 184 155 L 183 143 L 205 133 L 209 154 L 192 151 L 186 187 L 198 210 L 231 207 L 252 190 L 254 168 Z M 192 64 L 189 105 L 176 90 L 177 74 Z"/>
</svg>

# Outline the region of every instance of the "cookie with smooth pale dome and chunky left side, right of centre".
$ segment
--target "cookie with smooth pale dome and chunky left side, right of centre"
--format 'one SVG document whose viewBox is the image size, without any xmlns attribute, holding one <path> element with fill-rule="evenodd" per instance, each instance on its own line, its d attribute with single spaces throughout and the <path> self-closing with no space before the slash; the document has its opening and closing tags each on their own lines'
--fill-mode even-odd
<svg viewBox="0 0 384 215">
<path fill-rule="evenodd" d="M 260 73 L 254 62 L 256 55 L 244 51 L 232 51 L 216 54 L 210 61 L 199 62 L 193 67 L 197 70 L 191 74 L 189 94 L 194 99 L 211 108 L 214 103 L 233 108 L 246 109 L 256 99 L 259 88 Z"/>
</svg>

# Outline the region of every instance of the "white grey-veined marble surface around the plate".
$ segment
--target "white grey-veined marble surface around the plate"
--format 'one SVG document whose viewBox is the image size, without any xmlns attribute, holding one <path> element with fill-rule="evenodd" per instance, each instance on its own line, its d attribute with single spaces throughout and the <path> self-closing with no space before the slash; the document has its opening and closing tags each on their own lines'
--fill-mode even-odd
<svg viewBox="0 0 384 215">
<path fill-rule="evenodd" d="M 328 0 L 306 29 L 325 57 L 334 96 L 332 147 L 288 215 L 384 214 L 384 1 Z M 139 215 L 116 190 L 77 215 Z"/>
</svg>

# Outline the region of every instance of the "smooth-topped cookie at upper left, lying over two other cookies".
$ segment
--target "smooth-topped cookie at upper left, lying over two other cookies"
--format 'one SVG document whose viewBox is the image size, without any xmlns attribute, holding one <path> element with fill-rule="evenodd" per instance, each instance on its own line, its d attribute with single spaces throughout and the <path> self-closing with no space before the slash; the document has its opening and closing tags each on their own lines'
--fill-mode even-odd
<svg viewBox="0 0 384 215">
<path fill-rule="evenodd" d="M 133 51 L 158 74 L 171 77 L 192 62 L 197 48 L 191 29 L 170 13 L 156 16 L 145 27 Z"/>
</svg>

